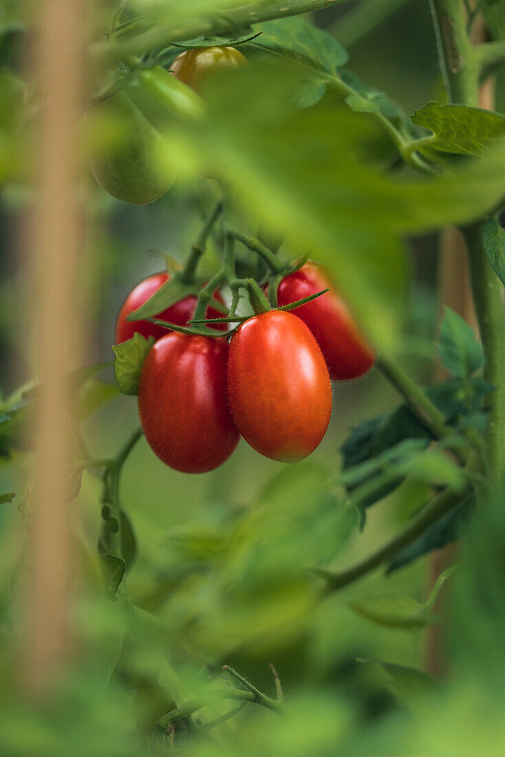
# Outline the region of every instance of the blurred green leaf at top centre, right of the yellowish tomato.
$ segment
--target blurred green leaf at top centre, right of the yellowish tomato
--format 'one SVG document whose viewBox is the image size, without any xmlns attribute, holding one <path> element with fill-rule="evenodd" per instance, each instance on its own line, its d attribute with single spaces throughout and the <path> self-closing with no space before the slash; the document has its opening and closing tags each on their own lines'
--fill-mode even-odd
<svg viewBox="0 0 505 757">
<path fill-rule="evenodd" d="M 334 37 L 300 16 L 266 21 L 254 28 L 261 31 L 252 42 L 255 47 L 307 61 L 310 67 L 332 76 L 348 61 L 347 52 Z"/>
</svg>

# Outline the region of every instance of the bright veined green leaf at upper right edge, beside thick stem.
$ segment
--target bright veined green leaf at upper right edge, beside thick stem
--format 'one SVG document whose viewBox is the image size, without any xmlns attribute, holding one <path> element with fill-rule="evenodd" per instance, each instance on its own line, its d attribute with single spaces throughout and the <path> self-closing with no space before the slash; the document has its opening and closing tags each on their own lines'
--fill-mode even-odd
<svg viewBox="0 0 505 757">
<path fill-rule="evenodd" d="M 505 136 L 505 117 L 480 107 L 431 101 L 415 111 L 412 120 L 434 133 L 429 146 L 441 152 L 482 155 Z"/>
</svg>

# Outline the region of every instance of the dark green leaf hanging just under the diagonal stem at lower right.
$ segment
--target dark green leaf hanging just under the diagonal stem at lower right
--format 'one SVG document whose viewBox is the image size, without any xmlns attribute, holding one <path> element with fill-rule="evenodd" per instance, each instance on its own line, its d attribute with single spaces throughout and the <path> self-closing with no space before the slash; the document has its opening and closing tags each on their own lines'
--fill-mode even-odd
<svg viewBox="0 0 505 757">
<path fill-rule="evenodd" d="M 398 553 L 389 563 L 387 572 L 391 573 L 432 550 L 440 550 L 451 544 L 463 534 L 474 510 L 475 497 L 471 495 Z"/>
</svg>

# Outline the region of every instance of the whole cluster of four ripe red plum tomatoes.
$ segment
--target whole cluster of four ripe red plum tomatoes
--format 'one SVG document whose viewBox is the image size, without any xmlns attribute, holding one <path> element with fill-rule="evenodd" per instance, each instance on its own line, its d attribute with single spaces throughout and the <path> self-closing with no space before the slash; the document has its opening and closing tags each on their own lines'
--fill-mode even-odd
<svg viewBox="0 0 505 757">
<path fill-rule="evenodd" d="M 157 456 L 182 472 L 206 472 L 231 455 L 240 436 L 283 462 L 310 455 L 329 425 L 330 376 L 357 378 L 373 364 L 335 290 L 292 312 L 251 316 L 228 341 L 126 320 L 166 281 L 167 274 L 157 274 L 137 285 L 116 324 L 117 341 L 134 332 L 157 339 L 139 387 L 142 428 Z M 328 286 L 326 277 L 307 264 L 282 279 L 279 300 L 289 304 L 322 286 Z M 220 300 L 219 293 L 214 296 Z M 195 298 L 185 298 L 161 317 L 182 326 L 194 307 Z M 219 317 L 211 308 L 207 313 Z"/>
</svg>

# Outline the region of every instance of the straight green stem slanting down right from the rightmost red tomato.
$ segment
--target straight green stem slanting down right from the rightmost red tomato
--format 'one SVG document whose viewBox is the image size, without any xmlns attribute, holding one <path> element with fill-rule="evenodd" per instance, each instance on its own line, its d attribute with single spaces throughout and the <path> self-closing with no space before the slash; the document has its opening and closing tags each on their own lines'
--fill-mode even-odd
<svg viewBox="0 0 505 757">
<path fill-rule="evenodd" d="M 454 437 L 454 428 L 450 428 L 446 424 L 444 414 L 438 410 L 438 407 L 432 403 L 426 392 L 413 382 L 401 366 L 386 357 L 378 357 L 376 366 L 404 397 L 407 407 L 412 410 L 416 418 L 422 422 L 422 425 L 426 426 L 436 439 L 443 440 Z M 463 455 L 461 450 L 457 450 L 455 454 L 460 459 L 460 463 L 466 463 L 467 456 Z"/>
</svg>

